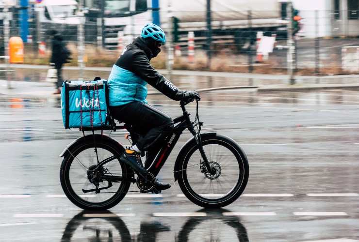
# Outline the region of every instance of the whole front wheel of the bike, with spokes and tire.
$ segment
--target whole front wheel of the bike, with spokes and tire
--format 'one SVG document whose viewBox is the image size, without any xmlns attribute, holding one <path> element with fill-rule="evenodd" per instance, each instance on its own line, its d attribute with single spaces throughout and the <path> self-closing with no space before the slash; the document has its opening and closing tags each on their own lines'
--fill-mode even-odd
<svg viewBox="0 0 359 242">
<path fill-rule="evenodd" d="M 183 194 L 198 206 L 221 208 L 235 201 L 248 181 L 249 166 L 245 153 L 227 136 L 202 138 L 202 146 L 211 167 L 210 174 L 196 143 L 187 147 L 179 170 Z"/>
</svg>

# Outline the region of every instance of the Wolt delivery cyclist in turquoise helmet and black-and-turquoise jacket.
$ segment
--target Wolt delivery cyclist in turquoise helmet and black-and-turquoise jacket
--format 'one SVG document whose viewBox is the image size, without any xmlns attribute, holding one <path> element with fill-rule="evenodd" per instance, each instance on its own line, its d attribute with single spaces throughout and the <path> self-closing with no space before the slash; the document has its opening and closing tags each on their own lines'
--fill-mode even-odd
<svg viewBox="0 0 359 242">
<path fill-rule="evenodd" d="M 159 74 L 150 64 L 161 46 L 166 42 L 163 30 L 155 24 L 147 24 L 140 37 L 127 45 L 114 63 L 109 76 L 109 106 L 114 119 L 131 124 L 140 136 L 131 148 L 121 155 L 120 160 L 136 172 L 146 175 L 140 154 L 157 145 L 173 130 L 170 116 L 147 104 L 147 83 L 175 101 L 200 99 L 197 91 L 182 91 Z M 155 188 L 165 190 L 170 184 L 157 181 Z"/>
</svg>

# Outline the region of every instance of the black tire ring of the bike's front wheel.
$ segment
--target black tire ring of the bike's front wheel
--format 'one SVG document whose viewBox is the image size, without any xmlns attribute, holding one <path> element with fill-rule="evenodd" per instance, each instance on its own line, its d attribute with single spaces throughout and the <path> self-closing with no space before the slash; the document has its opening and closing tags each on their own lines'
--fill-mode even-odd
<svg viewBox="0 0 359 242">
<path fill-rule="evenodd" d="M 239 165 L 239 176 L 238 181 L 233 186 L 232 190 L 224 195 L 221 198 L 206 198 L 202 197 L 200 194 L 196 193 L 189 183 L 189 178 L 187 177 L 187 165 L 188 161 L 191 158 L 191 155 L 198 150 L 196 143 L 193 143 L 192 146 L 188 146 L 186 150 L 183 152 L 183 156 L 181 157 L 181 164 L 179 165 L 179 187 L 181 188 L 183 194 L 195 203 L 198 206 L 203 208 L 222 208 L 233 201 L 235 201 L 238 197 L 241 196 L 243 191 L 245 190 L 245 186 L 248 182 L 249 177 L 249 165 L 248 160 L 245 155 L 245 152 L 239 147 L 239 145 L 228 136 L 208 136 L 202 138 L 202 145 L 205 147 L 209 144 L 220 145 L 227 148 L 232 152 L 236 161 Z"/>
</svg>

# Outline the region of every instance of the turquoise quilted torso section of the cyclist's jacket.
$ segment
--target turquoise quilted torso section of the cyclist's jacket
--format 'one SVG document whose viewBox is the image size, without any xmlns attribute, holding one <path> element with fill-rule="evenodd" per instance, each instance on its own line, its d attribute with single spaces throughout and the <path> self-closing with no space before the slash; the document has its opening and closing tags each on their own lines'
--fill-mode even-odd
<svg viewBox="0 0 359 242">
<path fill-rule="evenodd" d="M 147 82 L 126 69 L 114 65 L 108 85 L 110 106 L 121 106 L 133 101 L 147 104 Z"/>
</svg>

